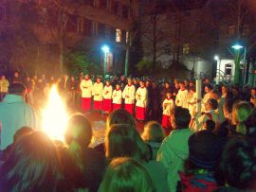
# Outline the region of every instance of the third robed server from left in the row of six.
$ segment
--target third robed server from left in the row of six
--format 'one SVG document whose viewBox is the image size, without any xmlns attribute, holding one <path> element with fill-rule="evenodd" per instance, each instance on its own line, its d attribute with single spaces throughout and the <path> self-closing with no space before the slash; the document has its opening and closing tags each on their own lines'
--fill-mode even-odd
<svg viewBox="0 0 256 192">
<path fill-rule="evenodd" d="M 104 113 L 110 113 L 112 111 L 112 92 L 113 88 L 109 79 L 106 79 L 106 85 L 103 89 L 103 111 Z"/>
</svg>

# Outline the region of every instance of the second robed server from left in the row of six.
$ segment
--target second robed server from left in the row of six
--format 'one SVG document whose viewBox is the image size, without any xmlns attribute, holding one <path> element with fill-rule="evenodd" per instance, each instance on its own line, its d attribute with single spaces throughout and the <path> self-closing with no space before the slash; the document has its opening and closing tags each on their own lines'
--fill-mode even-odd
<svg viewBox="0 0 256 192">
<path fill-rule="evenodd" d="M 93 84 L 93 106 L 94 110 L 102 110 L 102 101 L 103 101 L 103 83 L 101 78 L 97 77 L 96 82 Z"/>
</svg>

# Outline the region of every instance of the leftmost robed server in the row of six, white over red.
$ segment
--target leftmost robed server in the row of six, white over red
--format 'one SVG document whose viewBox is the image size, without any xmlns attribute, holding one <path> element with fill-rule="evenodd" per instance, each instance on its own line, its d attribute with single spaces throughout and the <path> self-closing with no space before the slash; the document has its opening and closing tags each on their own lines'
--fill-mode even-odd
<svg viewBox="0 0 256 192">
<path fill-rule="evenodd" d="M 80 83 L 80 89 L 82 92 L 81 105 L 84 112 L 91 110 L 91 99 L 92 99 L 92 80 L 89 79 L 88 75 L 85 75 Z"/>
</svg>

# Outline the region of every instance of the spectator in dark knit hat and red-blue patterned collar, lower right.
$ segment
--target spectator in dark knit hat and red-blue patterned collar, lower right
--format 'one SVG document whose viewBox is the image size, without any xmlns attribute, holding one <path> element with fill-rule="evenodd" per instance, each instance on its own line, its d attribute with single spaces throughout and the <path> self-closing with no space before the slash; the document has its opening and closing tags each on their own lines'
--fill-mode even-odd
<svg viewBox="0 0 256 192">
<path fill-rule="evenodd" d="M 211 192 L 218 187 L 214 170 L 220 160 L 224 141 L 210 131 L 198 131 L 189 139 L 189 158 L 180 172 L 177 192 Z"/>
</svg>

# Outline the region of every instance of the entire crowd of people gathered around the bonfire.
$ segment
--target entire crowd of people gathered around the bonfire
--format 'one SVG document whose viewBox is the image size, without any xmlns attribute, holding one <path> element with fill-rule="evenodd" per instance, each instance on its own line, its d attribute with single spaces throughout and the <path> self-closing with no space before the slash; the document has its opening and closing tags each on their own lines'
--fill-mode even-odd
<svg viewBox="0 0 256 192">
<path fill-rule="evenodd" d="M 64 142 L 34 129 L 33 106 L 54 83 L 82 109 L 70 117 Z M 205 79 L 198 93 L 186 79 L 23 81 L 18 73 L 2 77 L 0 87 L 1 191 L 256 190 L 255 88 Z M 108 114 L 95 148 L 84 116 L 91 110 Z M 147 121 L 141 134 L 137 121 Z"/>
</svg>

